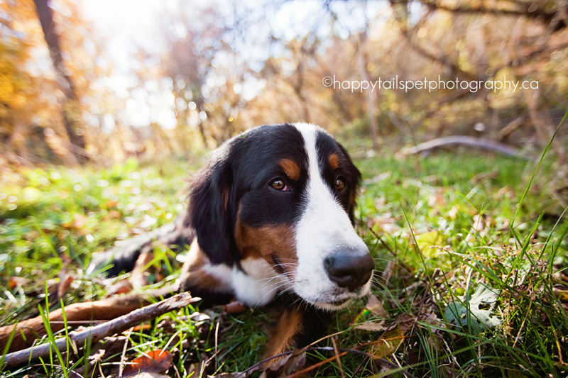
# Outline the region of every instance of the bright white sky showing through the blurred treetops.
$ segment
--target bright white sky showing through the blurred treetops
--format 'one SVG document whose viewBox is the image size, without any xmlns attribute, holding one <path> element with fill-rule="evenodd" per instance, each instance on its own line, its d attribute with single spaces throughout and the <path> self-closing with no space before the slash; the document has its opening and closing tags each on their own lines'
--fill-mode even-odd
<svg viewBox="0 0 568 378">
<path fill-rule="evenodd" d="M 108 56 L 113 60 L 115 69 L 114 77 L 109 81 L 111 89 L 119 98 L 126 99 L 123 121 L 132 126 L 146 126 L 155 121 L 163 128 L 175 127 L 174 99 L 168 83 L 158 82 L 157 87 L 153 88 L 155 94 L 151 106 L 148 105 L 148 96 L 144 90 L 132 92 L 129 87 L 136 85 L 136 77 L 133 75 L 136 60 L 133 55 L 138 46 L 157 56 L 163 52 L 156 15 L 164 8 L 176 9 L 178 1 L 187 0 L 82 0 L 84 17 L 92 20 L 97 34 L 102 35 L 107 42 Z M 257 40 L 251 37 L 250 43 L 245 41 L 233 47 L 256 70 L 261 69 L 262 61 L 268 54 L 278 53 L 268 52 L 261 43 L 263 39 L 268 40 L 269 33 L 285 40 L 305 35 L 316 26 L 319 28 L 316 33 L 323 38 L 331 33 L 330 23 L 320 22 L 322 17 L 329 18 L 329 13 L 322 11 L 322 1 L 285 1 L 278 3 L 276 7 L 267 6 L 266 1 L 262 0 L 246 1 L 243 7 L 232 1 L 215 0 L 212 3 L 218 4 L 219 13 L 229 20 L 239 11 L 266 11 L 266 14 L 260 14 L 261 18 L 266 16 L 266 23 L 251 23 L 247 26 L 252 29 L 249 30 L 251 36 L 256 36 Z M 212 3 L 193 1 L 192 6 L 195 4 L 198 11 L 200 6 L 211 6 Z M 346 38 L 349 30 L 357 30 L 364 25 L 365 17 L 375 17 L 383 9 L 388 9 L 387 2 L 366 2 L 366 11 L 363 11 L 361 4 L 361 1 L 332 3 L 332 9 L 339 17 L 336 32 L 340 36 Z M 248 13 L 243 14 L 249 16 Z M 261 88 L 262 85 L 258 82 L 249 82 L 244 83 L 241 90 L 248 92 L 249 96 L 256 96 Z M 111 128 L 114 121 L 108 118 L 106 121 Z"/>
</svg>

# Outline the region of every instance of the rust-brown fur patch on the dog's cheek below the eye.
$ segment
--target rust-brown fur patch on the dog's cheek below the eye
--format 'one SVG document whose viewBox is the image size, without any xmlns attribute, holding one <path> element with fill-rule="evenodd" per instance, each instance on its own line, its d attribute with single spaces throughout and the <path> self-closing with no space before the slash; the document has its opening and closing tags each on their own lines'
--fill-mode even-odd
<svg viewBox="0 0 568 378">
<path fill-rule="evenodd" d="M 253 228 L 236 221 L 236 244 L 243 258 L 260 257 L 270 265 L 278 265 L 283 272 L 294 274 L 290 266 L 297 263 L 294 231 L 290 226 L 263 226 Z"/>
</svg>

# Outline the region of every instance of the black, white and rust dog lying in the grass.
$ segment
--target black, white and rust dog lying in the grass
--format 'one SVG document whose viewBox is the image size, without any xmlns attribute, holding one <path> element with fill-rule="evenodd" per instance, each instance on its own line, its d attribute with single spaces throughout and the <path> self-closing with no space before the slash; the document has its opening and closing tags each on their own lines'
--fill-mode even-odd
<svg viewBox="0 0 568 378">
<path fill-rule="evenodd" d="M 375 262 L 354 230 L 361 173 L 329 133 L 307 123 L 259 126 L 212 152 L 173 225 L 94 259 L 132 269 L 155 243 L 190 245 L 173 291 L 204 305 L 284 304 L 266 355 L 322 337 L 334 311 L 370 291 Z"/>
</svg>

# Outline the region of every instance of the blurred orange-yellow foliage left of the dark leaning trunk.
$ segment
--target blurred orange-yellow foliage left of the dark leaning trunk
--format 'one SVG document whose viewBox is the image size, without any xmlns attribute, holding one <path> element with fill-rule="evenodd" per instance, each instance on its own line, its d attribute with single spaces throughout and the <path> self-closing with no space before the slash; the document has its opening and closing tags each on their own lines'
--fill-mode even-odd
<svg viewBox="0 0 568 378">
<path fill-rule="evenodd" d="M 0 2 L 0 162 L 33 165 L 67 161 L 58 135 L 60 118 L 52 75 L 44 74 L 43 36 L 31 0 Z"/>
</svg>

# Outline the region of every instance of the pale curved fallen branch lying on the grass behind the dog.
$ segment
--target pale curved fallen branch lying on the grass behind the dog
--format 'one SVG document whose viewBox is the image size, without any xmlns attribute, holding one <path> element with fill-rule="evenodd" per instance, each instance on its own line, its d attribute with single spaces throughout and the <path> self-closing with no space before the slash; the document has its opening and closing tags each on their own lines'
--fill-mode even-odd
<svg viewBox="0 0 568 378">
<path fill-rule="evenodd" d="M 493 152 L 498 152 L 503 155 L 519 157 L 523 160 L 533 160 L 534 157 L 530 155 L 525 155 L 520 150 L 510 147 L 509 145 L 504 145 L 503 143 L 493 142 L 493 140 L 474 138 L 466 135 L 454 135 L 447 136 L 444 138 L 436 138 L 428 140 L 427 142 L 420 143 L 414 147 L 403 148 L 396 155 L 398 156 L 408 156 L 419 154 L 420 152 L 425 152 L 428 150 L 434 150 L 435 148 L 447 147 L 450 145 L 466 145 L 474 148 L 482 148 L 484 150 L 490 150 Z"/>
</svg>

